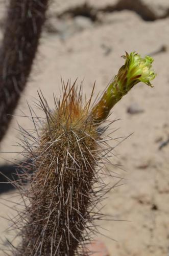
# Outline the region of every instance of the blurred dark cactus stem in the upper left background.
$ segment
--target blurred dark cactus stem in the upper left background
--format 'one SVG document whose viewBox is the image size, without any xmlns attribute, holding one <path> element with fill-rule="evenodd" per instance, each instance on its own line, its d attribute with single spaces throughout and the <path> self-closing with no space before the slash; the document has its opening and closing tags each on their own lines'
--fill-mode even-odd
<svg viewBox="0 0 169 256">
<path fill-rule="evenodd" d="M 0 55 L 0 141 L 35 58 L 48 0 L 11 0 Z"/>
</svg>

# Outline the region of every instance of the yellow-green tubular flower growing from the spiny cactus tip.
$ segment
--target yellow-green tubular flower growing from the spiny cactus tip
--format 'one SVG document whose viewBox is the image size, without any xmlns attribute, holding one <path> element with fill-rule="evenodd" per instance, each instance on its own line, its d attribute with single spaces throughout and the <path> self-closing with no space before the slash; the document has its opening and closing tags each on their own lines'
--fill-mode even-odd
<svg viewBox="0 0 169 256">
<path fill-rule="evenodd" d="M 91 114 L 96 122 L 106 119 L 112 107 L 138 82 L 143 82 L 152 87 L 151 80 L 155 78 L 152 70 L 153 58 L 141 58 L 139 54 L 126 52 L 125 64 L 119 69 L 118 74 L 110 83 L 101 100 L 94 106 Z"/>
</svg>

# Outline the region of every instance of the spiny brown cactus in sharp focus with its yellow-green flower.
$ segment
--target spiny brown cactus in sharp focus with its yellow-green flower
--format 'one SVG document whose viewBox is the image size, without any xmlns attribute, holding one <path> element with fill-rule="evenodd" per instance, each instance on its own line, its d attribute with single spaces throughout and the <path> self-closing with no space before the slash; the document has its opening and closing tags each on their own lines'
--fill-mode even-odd
<svg viewBox="0 0 169 256">
<path fill-rule="evenodd" d="M 30 107 L 36 136 L 21 131 L 23 155 L 31 160 L 27 170 L 34 168 L 35 172 L 29 175 L 26 171 L 21 177 L 30 181 L 28 189 L 16 184 L 25 207 L 19 212 L 18 222 L 13 220 L 21 242 L 16 250 L 12 248 L 12 255 L 83 255 L 83 245 L 98 232 L 94 220 L 102 214 L 95 206 L 110 189 L 101 173 L 113 155 L 108 144 L 113 138 L 103 136 L 109 126 L 105 119 L 136 83 L 151 85 L 155 76 L 152 58 L 142 59 L 135 53 L 125 58 L 125 65 L 93 108 L 93 93 L 83 103 L 81 87 L 63 81 L 63 95 L 54 97 L 54 110 L 39 93 L 45 119 L 38 118 Z"/>
</svg>

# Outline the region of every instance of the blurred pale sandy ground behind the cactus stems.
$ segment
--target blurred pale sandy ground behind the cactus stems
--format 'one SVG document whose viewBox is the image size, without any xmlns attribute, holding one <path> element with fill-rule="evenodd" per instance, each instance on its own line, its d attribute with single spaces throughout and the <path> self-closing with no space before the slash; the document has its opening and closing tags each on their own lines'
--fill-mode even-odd
<svg viewBox="0 0 169 256">
<path fill-rule="evenodd" d="M 87 96 L 96 80 L 96 95 L 104 90 L 123 64 L 120 56 L 125 51 L 152 54 L 157 73 L 154 88 L 140 83 L 115 105 L 110 117 L 112 120 L 122 119 L 112 125 L 113 128 L 120 127 L 114 137 L 134 133 L 116 148 L 118 156 L 112 162 L 122 164 L 126 172 L 114 171 L 126 180 L 123 186 L 109 193 L 103 209 L 114 219 L 126 221 L 101 223 L 106 229 L 101 232 L 117 242 L 101 235 L 100 238 L 111 256 L 167 256 L 169 144 L 161 150 L 159 146 L 169 137 L 169 3 L 168 0 L 135 1 L 131 8 L 132 1 L 126 1 L 126 6 L 116 11 L 119 10 L 117 4 L 123 6 L 123 2 L 88 1 L 87 8 L 85 1 L 54 2 L 55 8 L 49 10 L 34 70 L 16 115 L 20 115 L 20 110 L 29 114 L 26 100 L 33 105 L 39 88 L 53 106 L 53 92 L 60 95 L 60 76 L 65 81 L 68 78 L 74 81 L 78 77 L 78 83 L 84 79 L 83 91 Z M 132 10 L 123 10 L 126 8 Z M 129 108 L 137 113 L 128 113 Z M 16 121 L 25 129 L 32 127 L 27 118 L 15 117 L 1 144 L 3 152 L 19 151 L 18 147 L 12 146 L 19 137 L 15 130 Z M 20 158 L 19 154 L 11 153 L 1 153 L 1 157 L 6 159 L 1 163 Z M 112 179 L 111 184 L 115 182 Z M 11 194 L 1 198 L 13 200 Z M 3 205 L 0 211 L 1 216 L 14 214 Z M 2 219 L 2 238 L 9 238 L 10 235 L 3 232 L 8 226 L 8 221 Z"/>
</svg>

